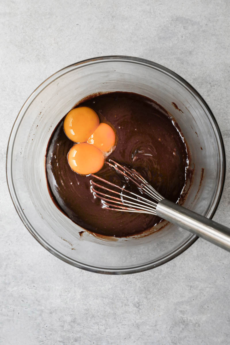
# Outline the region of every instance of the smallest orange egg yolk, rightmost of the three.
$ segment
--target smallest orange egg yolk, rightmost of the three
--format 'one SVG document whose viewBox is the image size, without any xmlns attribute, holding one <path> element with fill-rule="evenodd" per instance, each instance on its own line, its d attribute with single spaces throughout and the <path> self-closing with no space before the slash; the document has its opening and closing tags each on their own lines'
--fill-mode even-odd
<svg viewBox="0 0 230 345">
<path fill-rule="evenodd" d="M 109 152 L 115 144 L 115 140 L 116 136 L 112 127 L 101 122 L 87 142 L 103 152 Z"/>
</svg>

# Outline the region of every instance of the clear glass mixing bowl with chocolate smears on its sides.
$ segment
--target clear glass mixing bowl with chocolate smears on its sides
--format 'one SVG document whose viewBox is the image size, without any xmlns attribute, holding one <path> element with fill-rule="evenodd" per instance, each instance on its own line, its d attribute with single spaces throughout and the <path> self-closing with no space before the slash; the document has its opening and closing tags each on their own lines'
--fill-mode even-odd
<svg viewBox="0 0 230 345">
<path fill-rule="evenodd" d="M 85 60 L 45 80 L 24 103 L 13 125 L 7 150 L 7 180 L 24 225 L 49 252 L 91 272 L 134 273 L 166 263 L 197 236 L 169 223 L 148 236 L 114 240 L 87 231 L 81 233 L 83 229 L 53 204 L 47 189 L 44 157 L 54 127 L 79 100 L 108 91 L 140 93 L 170 112 L 186 138 L 194 167 L 184 206 L 212 217 L 225 173 L 217 122 L 188 82 L 157 63 L 139 58 Z"/>
</svg>

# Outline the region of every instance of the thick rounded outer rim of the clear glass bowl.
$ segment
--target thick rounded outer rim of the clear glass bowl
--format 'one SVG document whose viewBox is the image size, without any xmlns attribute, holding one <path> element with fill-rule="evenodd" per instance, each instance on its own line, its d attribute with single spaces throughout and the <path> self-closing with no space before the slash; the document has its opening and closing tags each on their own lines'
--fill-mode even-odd
<svg viewBox="0 0 230 345">
<path fill-rule="evenodd" d="M 92 63 L 98 63 L 98 62 L 103 62 L 106 60 L 112 60 L 112 61 L 128 61 L 128 62 L 133 62 L 141 65 L 146 65 L 148 67 L 160 70 L 161 72 L 166 73 L 170 77 L 173 77 L 176 79 L 178 82 L 180 82 L 184 87 L 188 89 L 193 95 L 195 95 L 198 100 L 202 103 L 202 106 L 206 108 L 207 112 L 209 113 L 212 121 L 213 121 L 213 126 L 214 129 L 217 131 L 217 137 L 219 138 L 220 141 L 220 154 L 222 154 L 222 166 L 220 167 L 220 180 L 218 181 L 219 188 L 217 188 L 216 191 L 216 198 L 215 202 L 211 206 L 211 210 L 209 210 L 208 218 L 212 218 L 213 215 L 215 214 L 217 207 L 219 205 L 221 196 L 222 196 L 222 191 L 223 191 L 223 186 L 224 186 L 224 180 L 225 180 L 225 174 L 226 174 L 226 155 L 225 155 L 225 150 L 224 150 L 224 144 L 223 144 L 223 139 L 222 135 L 220 132 L 220 128 L 217 124 L 216 118 L 214 117 L 211 109 L 209 108 L 208 104 L 206 101 L 203 99 L 203 97 L 199 94 L 199 92 L 194 89 L 190 83 L 188 83 L 186 80 L 184 80 L 182 77 L 180 77 L 177 73 L 173 72 L 172 70 L 147 59 L 142 59 L 142 58 L 137 58 L 137 57 L 130 57 L 130 56 L 123 56 L 123 55 L 111 55 L 111 56 L 101 56 L 101 57 L 96 57 L 96 58 L 91 58 L 91 59 L 86 59 L 79 61 L 77 63 L 73 63 L 72 65 L 69 65 L 67 67 L 64 67 L 60 69 L 59 71 L 53 73 L 50 77 L 48 77 L 46 80 L 44 80 L 28 97 L 28 99 L 24 102 L 21 110 L 19 111 L 19 114 L 14 121 L 13 127 L 11 129 L 9 141 L 8 141 L 8 147 L 7 147 L 7 157 L 6 157 L 6 175 L 7 175 L 7 184 L 8 184 L 8 189 L 9 193 L 13 202 L 13 205 L 19 215 L 19 217 L 22 220 L 22 223 L 24 226 L 28 229 L 30 234 L 44 247 L 46 248 L 51 254 L 57 256 L 59 259 L 63 260 L 64 262 L 90 271 L 90 272 L 95 272 L 95 273 L 103 273 L 103 274 L 130 274 L 130 273 L 137 273 L 137 272 L 142 272 L 151 268 L 158 267 L 173 258 L 177 257 L 181 253 L 184 252 L 187 248 L 189 248 L 197 239 L 198 236 L 196 235 L 191 235 L 191 237 L 187 240 L 187 242 L 183 243 L 180 247 L 177 249 L 173 250 L 169 254 L 165 255 L 164 257 L 157 259 L 155 261 L 151 261 L 146 264 L 141 264 L 138 266 L 131 266 L 131 267 L 126 267 L 126 268 L 108 268 L 108 267 L 94 267 L 91 265 L 86 265 L 81 262 L 77 262 L 71 258 L 69 258 L 66 255 L 63 255 L 60 253 L 58 250 L 53 248 L 46 240 L 44 240 L 38 233 L 37 231 L 30 225 L 28 219 L 23 213 L 22 208 L 20 207 L 20 203 L 17 198 L 16 191 L 14 189 L 13 185 L 13 178 L 12 178 L 12 171 L 11 171 L 11 159 L 12 159 L 12 150 L 13 150 L 13 145 L 14 145 L 14 138 L 17 134 L 18 128 L 20 126 L 21 120 L 24 116 L 25 111 L 29 107 L 30 103 L 37 97 L 37 95 L 44 89 L 46 88 L 51 82 L 53 82 L 55 79 L 60 77 L 61 75 L 71 71 L 74 67 L 79 66 L 79 65 L 86 65 L 86 64 L 92 64 Z"/>
</svg>

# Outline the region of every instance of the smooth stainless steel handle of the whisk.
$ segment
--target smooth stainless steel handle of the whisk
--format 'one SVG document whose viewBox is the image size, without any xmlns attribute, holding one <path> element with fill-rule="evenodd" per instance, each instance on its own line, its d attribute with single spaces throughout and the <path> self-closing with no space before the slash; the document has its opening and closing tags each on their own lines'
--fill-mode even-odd
<svg viewBox="0 0 230 345">
<path fill-rule="evenodd" d="M 230 252 L 230 229 L 182 206 L 163 199 L 156 208 L 159 217 Z"/>
</svg>

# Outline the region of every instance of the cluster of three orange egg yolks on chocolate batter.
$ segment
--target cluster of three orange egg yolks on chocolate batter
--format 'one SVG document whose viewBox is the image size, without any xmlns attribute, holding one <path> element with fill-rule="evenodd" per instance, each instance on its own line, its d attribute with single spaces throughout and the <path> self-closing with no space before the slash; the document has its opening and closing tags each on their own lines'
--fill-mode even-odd
<svg viewBox="0 0 230 345">
<path fill-rule="evenodd" d="M 77 143 L 68 153 L 71 169 L 82 175 L 99 171 L 116 141 L 112 127 L 100 123 L 93 109 L 79 107 L 68 112 L 63 128 L 67 137 Z"/>
</svg>

